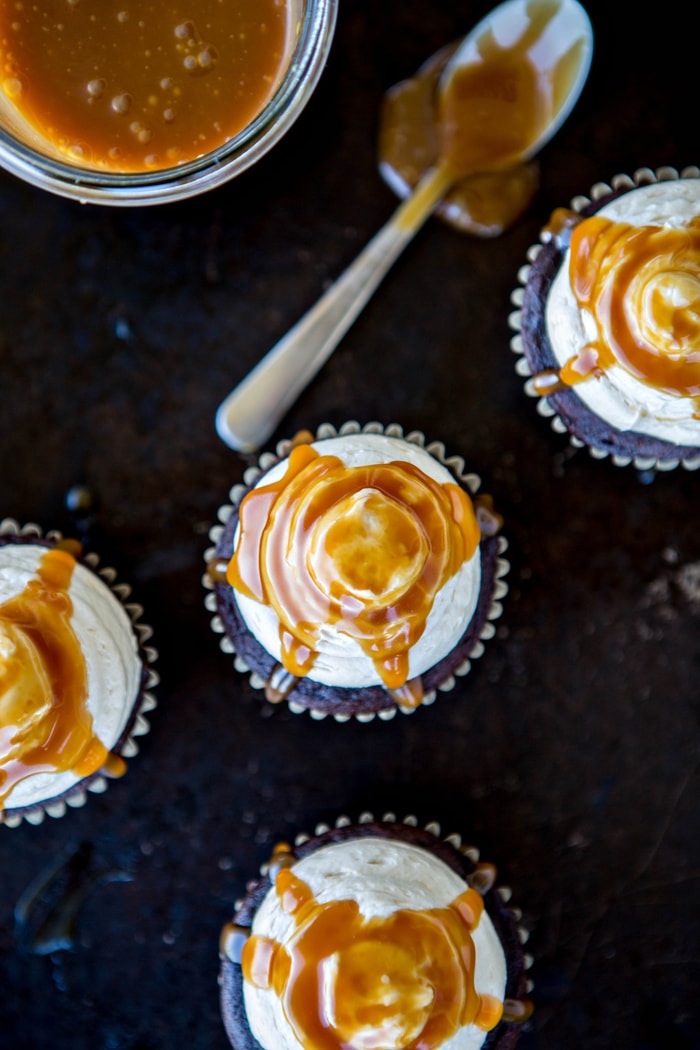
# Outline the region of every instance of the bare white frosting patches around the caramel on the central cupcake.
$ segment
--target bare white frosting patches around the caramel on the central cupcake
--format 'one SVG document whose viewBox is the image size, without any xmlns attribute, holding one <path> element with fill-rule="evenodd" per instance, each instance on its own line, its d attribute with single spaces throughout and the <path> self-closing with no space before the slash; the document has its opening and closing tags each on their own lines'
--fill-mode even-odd
<svg viewBox="0 0 700 1050">
<path fill-rule="evenodd" d="M 410 463 L 441 484 L 454 484 L 449 470 L 420 445 L 382 434 L 353 434 L 327 438 L 312 443 L 323 456 L 337 456 L 345 467 L 403 461 Z M 267 485 L 280 479 L 288 461 L 277 463 L 260 480 Z M 239 532 L 234 537 L 234 548 Z M 481 585 L 479 546 L 438 592 L 423 634 L 410 649 L 409 678 L 433 667 L 457 645 L 474 614 Z M 235 592 L 240 614 L 251 633 L 263 648 L 281 662 L 279 621 L 274 609 L 240 592 Z M 317 657 L 307 677 L 327 686 L 366 687 L 381 685 L 374 662 L 362 651 L 356 639 L 335 630 L 333 625 L 321 627 Z"/>
</svg>

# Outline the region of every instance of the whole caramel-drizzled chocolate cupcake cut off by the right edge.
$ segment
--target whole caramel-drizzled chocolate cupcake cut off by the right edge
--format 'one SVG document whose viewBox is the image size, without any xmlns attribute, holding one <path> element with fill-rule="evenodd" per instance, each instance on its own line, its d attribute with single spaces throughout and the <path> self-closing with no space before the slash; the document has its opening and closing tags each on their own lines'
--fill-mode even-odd
<svg viewBox="0 0 700 1050">
<path fill-rule="evenodd" d="M 513 293 L 526 391 L 617 465 L 700 466 L 700 169 L 639 169 L 557 209 Z"/>
</svg>

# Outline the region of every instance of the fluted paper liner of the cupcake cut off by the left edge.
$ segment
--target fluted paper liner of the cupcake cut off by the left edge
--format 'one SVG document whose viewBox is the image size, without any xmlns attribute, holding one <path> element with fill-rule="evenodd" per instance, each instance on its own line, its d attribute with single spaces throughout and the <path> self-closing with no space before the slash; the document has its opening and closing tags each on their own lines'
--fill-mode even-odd
<svg viewBox="0 0 700 1050">
<path fill-rule="evenodd" d="M 37 543 L 47 548 L 55 546 L 63 539 L 58 530 L 46 533 L 35 523 L 20 525 L 13 518 L 5 518 L 0 521 L 0 544 L 4 540 L 12 538 L 14 542 Z M 131 714 L 127 718 L 125 728 L 116 742 L 109 749 L 111 754 L 122 758 L 133 758 L 139 754 L 137 737 L 145 736 L 150 731 L 150 723 L 146 714 L 152 711 L 157 701 L 151 690 L 158 684 L 157 672 L 153 670 L 153 664 L 157 659 L 157 651 L 150 644 L 153 634 L 152 628 L 144 624 L 142 616 L 144 609 L 134 602 L 128 602 L 131 594 L 131 587 L 128 584 L 120 583 L 116 579 L 116 570 L 107 566 L 100 566 L 100 558 L 90 551 L 82 554 L 79 559 L 81 564 L 90 569 L 108 587 L 111 593 L 124 607 L 131 627 L 134 632 L 141 663 L 143 667 L 141 691 L 135 698 Z M 63 792 L 55 798 L 47 799 L 46 802 L 38 802 L 27 807 L 18 807 L 16 811 L 0 811 L 0 823 L 6 827 L 17 827 L 26 820 L 29 824 L 40 824 L 44 817 L 62 817 L 67 808 L 79 808 L 84 805 L 88 798 L 88 792 L 102 794 L 107 790 L 111 778 L 105 776 L 98 770 L 91 776 L 78 781 L 77 784 Z"/>
</svg>

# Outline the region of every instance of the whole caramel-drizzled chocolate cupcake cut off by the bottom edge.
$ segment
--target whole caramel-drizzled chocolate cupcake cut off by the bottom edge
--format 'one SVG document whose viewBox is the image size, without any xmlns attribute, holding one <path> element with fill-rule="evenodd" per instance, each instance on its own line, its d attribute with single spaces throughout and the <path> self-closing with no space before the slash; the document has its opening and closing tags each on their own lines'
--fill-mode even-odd
<svg viewBox="0 0 700 1050">
<path fill-rule="evenodd" d="M 281 843 L 221 931 L 234 1050 L 510 1050 L 532 1009 L 527 933 L 495 876 L 391 814 Z"/>
</svg>

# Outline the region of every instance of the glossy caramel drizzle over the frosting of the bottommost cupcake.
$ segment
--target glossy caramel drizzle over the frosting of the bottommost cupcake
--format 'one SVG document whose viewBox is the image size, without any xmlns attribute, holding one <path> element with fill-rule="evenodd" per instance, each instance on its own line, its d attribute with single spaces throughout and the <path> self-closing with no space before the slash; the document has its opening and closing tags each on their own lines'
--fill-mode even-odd
<svg viewBox="0 0 700 1050">
<path fill-rule="evenodd" d="M 305 1050 L 434 1050 L 465 1025 L 489 1031 L 501 1020 L 503 1003 L 474 989 L 476 890 L 365 919 L 354 900 L 318 903 L 290 868 L 275 888 L 294 932 L 287 946 L 253 934 L 242 973 L 281 1000 Z"/>
</svg>

